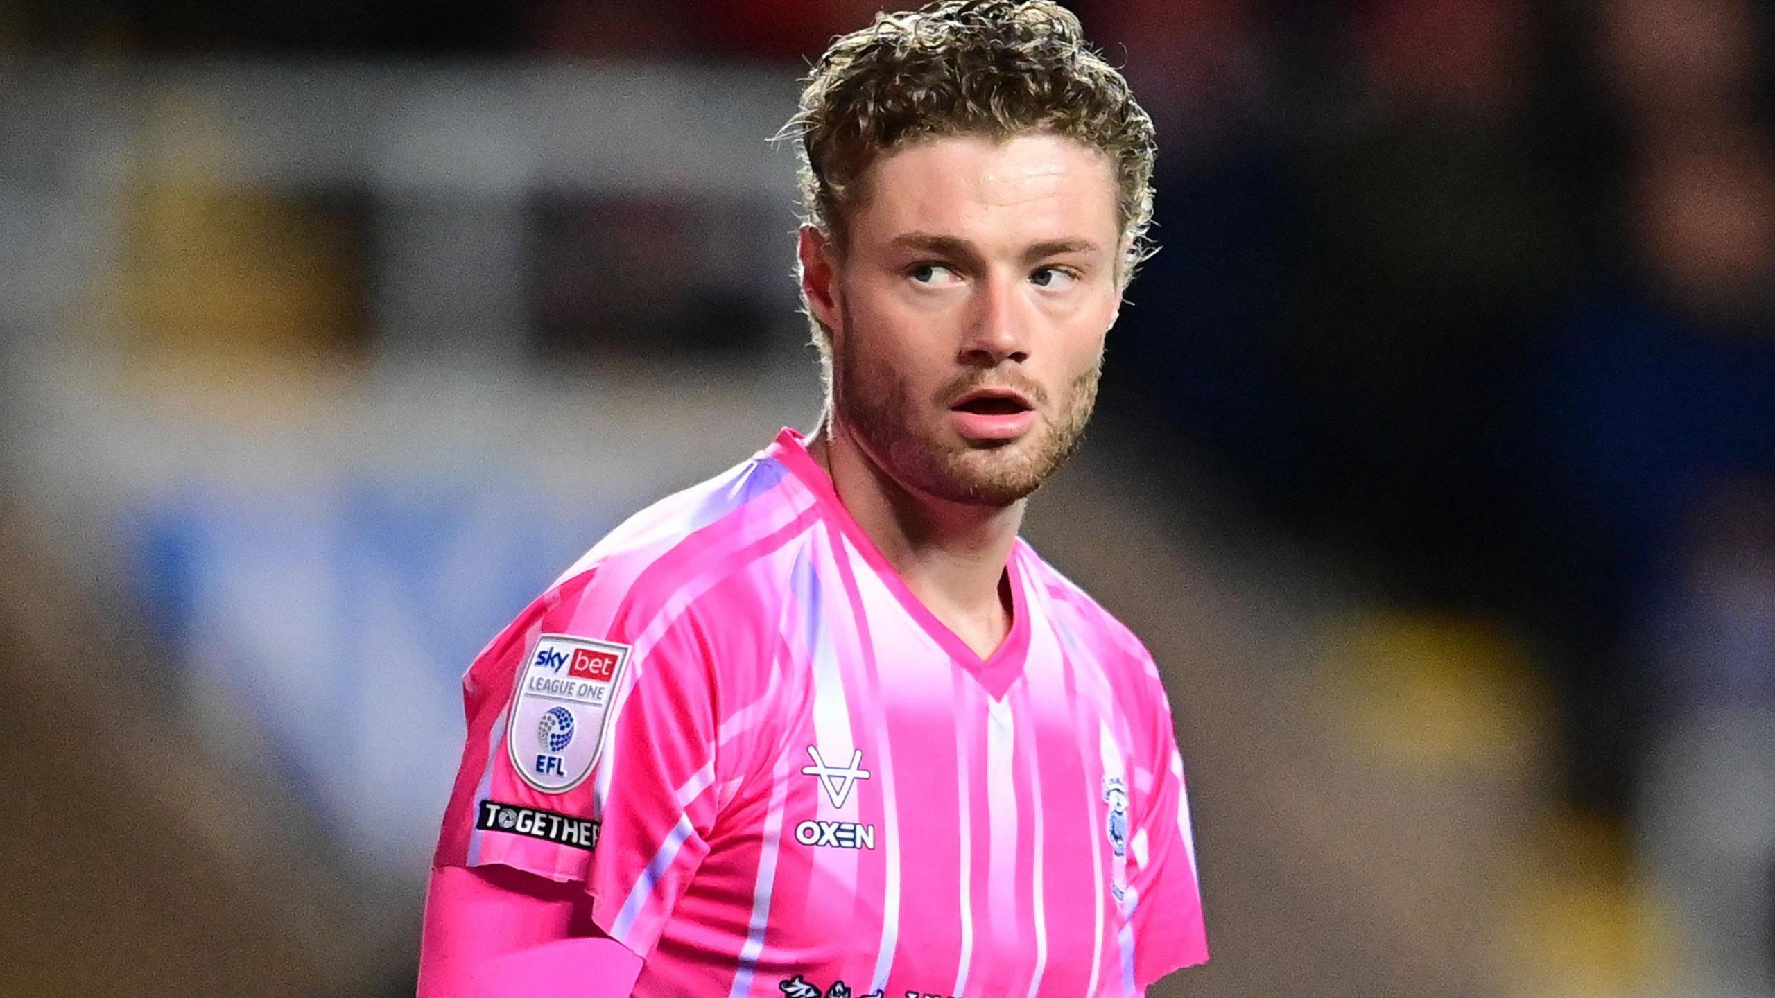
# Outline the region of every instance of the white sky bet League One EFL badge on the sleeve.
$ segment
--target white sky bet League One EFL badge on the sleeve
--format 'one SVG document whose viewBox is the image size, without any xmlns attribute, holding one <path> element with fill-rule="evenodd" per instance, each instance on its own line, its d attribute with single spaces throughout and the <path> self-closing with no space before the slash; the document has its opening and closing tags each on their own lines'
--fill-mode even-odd
<svg viewBox="0 0 1775 998">
<path fill-rule="evenodd" d="M 545 794 L 579 787 L 598 764 L 628 645 L 543 634 L 518 669 L 506 725 L 511 765 Z"/>
</svg>

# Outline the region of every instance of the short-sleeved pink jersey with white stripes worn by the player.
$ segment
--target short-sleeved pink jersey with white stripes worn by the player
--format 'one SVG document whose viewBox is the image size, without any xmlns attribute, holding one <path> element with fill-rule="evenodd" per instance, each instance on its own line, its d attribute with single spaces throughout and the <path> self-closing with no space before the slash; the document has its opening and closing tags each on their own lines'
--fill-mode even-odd
<svg viewBox="0 0 1775 998">
<path fill-rule="evenodd" d="M 982 661 L 785 430 L 476 659 L 437 865 L 584 884 L 641 996 L 1140 994 L 1207 959 L 1164 689 L 1021 540 L 1008 577 Z"/>
</svg>

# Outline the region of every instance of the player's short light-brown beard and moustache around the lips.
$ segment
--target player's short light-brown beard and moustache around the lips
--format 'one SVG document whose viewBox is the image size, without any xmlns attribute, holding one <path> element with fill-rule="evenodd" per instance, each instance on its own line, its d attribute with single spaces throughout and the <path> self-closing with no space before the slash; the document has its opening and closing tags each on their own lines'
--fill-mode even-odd
<svg viewBox="0 0 1775 998">
<path fill-rule="evenodd" d="M 998 369 L 969 371 L 928 400 L 914 400 L 895 371 L 870 369 L 854 352 L 838 357 L 832 408 L 870 456 L 902 487 L 966 506 L 1010 506 L 1042 487 L 1085 440 L 1097 405 L 1102 355 L 1049 400 L 1040 385 Z M 1037 408 L 1028 433 L 1012 440 L 969 442 L 932 412 L 976 387 L 1021 391 Z M 1049 401 L 1053 405 L 1049 405 Z"/>
</svg>

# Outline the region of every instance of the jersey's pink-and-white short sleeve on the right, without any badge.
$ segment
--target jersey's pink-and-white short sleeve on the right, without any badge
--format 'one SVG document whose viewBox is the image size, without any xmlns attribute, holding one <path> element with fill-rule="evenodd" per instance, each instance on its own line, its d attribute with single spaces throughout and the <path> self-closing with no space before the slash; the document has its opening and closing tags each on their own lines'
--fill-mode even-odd
<svg viewBox="0 0 1775 998">
<path fill-rule="evenodd" d="M 1141 987 L 1177 968 L 1209 959 L 1184 756 L 1177 749 L 1172 709 L 1157 668 L 1148 664 L 1148 669 L 1152 696 L 1141 753 L 1147 787 L 1132 801 L 1134 828 L 1129 840 L 1134 978 Z"/>
</svg>

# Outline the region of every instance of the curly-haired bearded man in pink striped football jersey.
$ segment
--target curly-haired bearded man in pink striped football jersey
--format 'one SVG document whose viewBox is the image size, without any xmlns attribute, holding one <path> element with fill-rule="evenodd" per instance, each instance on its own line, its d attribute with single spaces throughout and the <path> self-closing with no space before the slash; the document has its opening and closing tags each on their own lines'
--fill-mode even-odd
<svg viewBox="0 0 1775 998">
<path fill-rule="evenodd" d="M 801 112 L 818 430 L 639 513 L 476 659 L 421 994 L 1138 994 L 1207 959 L 1150 655 L 1017 538 L 1152 124 L 1054 4 L 880 16 Z"/>
</svg>

